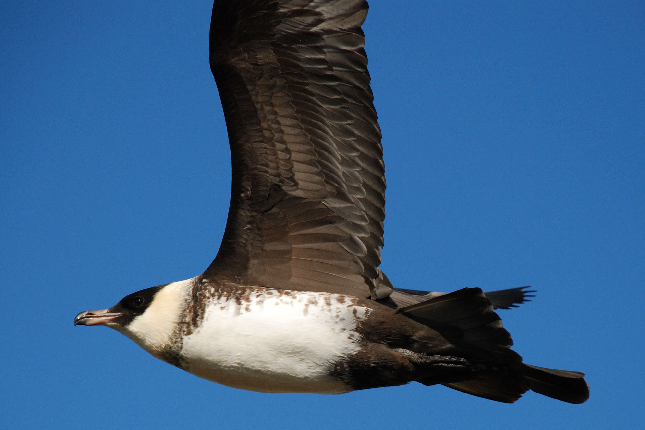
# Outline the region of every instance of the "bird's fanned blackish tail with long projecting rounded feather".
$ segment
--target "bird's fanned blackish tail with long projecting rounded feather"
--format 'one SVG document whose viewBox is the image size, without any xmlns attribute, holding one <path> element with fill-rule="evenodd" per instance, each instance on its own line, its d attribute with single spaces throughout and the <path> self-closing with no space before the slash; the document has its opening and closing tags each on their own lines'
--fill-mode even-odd
<svg viewBox="0 0 645 430">
<path fill-rule="evenodd" d="M 589 398 L 583 373 L 522 363 L 522 358 L 509 349 L 513 340 L 479 288 L 453 291 L 399 312 L 439 331 L 464 351 L 470 349 L 469 360 L 481 366 L 475 379 L 444 384 L 447 387 L 506 403 L 515 402 L 528 390 L 569 403 Z M 419 382 L 432 384 L 432 380 Z"/>
</svg>

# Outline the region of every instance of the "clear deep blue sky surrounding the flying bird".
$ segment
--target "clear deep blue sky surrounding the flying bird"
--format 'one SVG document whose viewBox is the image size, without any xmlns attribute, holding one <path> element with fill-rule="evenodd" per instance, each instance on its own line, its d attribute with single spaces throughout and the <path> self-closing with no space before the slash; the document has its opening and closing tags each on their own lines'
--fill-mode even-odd
<svg viewBox="0 0 645 430">
<path fill-rule="evenodd" d="M 206 382 L 79 311 L 193 277 L 228 211 L 209 1 L 3 1 L 3 428 L 640 428 L 642 2 L 372 1 L 388 180 L 382 269 L 402 288 L 531 284 L 515 350 L 587 373 L 582 405 L 446 387 L 266 395 Z"/>
</svg>

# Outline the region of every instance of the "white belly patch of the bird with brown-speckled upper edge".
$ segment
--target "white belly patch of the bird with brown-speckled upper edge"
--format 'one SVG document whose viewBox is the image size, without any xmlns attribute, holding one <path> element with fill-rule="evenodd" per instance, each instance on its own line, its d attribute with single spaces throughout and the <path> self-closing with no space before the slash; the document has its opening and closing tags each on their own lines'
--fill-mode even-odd
<svg viewBox="0 0 645 430">
<path fill-rule="evenodd" d="M 356 298 L 258 289 L 250 301 L 208 304 L 201 326 L 184 337 L 185 368 L 201 378 L 265 393 L 340 394 L 333 364 L 359 350 L 357 323 L 369 308 Z"/>
</svg>

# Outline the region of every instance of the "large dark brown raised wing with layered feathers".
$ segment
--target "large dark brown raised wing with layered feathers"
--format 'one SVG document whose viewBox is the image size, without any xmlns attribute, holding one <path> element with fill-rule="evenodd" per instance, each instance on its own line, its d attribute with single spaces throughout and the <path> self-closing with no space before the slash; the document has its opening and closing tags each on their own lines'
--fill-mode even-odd
<svg viewBox="0 0 645 430">
<path fill-rule="evenodd" d="M 382 298 L 384 166 L 363 0 L 215 1 L 210 65 L 231 146 L 221 248 L 241 284 Z"/>
</svg>

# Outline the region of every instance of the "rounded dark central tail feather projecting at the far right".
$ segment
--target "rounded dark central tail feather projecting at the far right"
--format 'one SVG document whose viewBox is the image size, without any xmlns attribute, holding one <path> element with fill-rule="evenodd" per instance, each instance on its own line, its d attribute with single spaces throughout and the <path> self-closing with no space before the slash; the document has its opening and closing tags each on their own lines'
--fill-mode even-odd
<svg viewBox="0 0 645 430">
<path fill-rule="evenodd" d="M 569 403 L 582 403 L 589 398 L 589 384 L 582 378 L 584 373 L 530 364 L 524 364 L 522 373 L 535 393 Z"/>
</svg>

